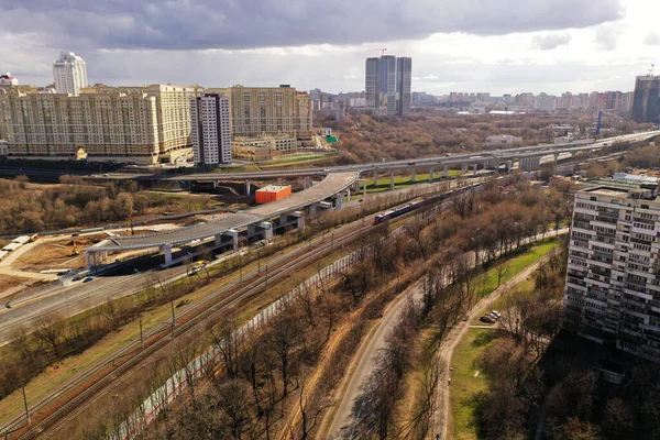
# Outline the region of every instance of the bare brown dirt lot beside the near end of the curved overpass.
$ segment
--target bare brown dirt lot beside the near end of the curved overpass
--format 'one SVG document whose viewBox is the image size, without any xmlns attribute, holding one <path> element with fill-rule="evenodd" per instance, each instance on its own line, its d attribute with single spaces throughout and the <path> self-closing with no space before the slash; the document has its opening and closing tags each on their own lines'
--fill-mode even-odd
<svg viewBox="0 0 660 440">
<path fill-rule="evenodd" d="M 106 234 L 76 237 L 57 241 L 42 241 L 21 255 L 11 266 L 19 271 L 40 272 L 55 268 L 77 268 L 85 265 L 85 248 L 107 238 Z M 73 255 L 74 241 L 79 252 Z"/>
</svg>

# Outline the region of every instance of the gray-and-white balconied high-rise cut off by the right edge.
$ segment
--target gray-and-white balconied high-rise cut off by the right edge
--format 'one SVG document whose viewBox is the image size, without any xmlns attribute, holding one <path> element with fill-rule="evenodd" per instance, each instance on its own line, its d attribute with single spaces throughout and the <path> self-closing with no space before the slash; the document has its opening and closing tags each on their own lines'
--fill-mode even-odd
<svg viewBox="0 0 660 440">
<path fill-rule="evenodd" d="M 575 195 L 566 328 L 660 362 L 658 183 L 632 177 Z"/>
</svg>

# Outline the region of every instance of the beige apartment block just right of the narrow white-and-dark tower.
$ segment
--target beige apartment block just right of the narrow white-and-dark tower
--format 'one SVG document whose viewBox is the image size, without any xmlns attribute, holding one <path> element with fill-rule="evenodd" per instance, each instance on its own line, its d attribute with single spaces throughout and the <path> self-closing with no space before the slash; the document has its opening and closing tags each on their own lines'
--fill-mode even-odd
<svg viewBox="0 0 660 440">
<path fill-rule="evenodd" d="M 231 109 L 232 136 L 264 134 L 299 135 L 311 130 L 311 99 L 306 91 L 279 87 L 233 86 L 208 89 L 227 96 Z"/>
</svg>

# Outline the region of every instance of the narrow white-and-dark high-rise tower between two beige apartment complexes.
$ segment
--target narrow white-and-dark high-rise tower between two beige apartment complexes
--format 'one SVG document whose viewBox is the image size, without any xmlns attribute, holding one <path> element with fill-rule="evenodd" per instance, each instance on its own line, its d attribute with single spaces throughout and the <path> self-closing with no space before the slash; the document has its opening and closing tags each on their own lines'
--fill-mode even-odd
<svg viewBox="0 0 660 440">
<path fill-rule="evenodd" d="M 190 99 L 190 139 L 196 164 L 231 163 L 229 98 L 205 94 Z"/>
</svg>

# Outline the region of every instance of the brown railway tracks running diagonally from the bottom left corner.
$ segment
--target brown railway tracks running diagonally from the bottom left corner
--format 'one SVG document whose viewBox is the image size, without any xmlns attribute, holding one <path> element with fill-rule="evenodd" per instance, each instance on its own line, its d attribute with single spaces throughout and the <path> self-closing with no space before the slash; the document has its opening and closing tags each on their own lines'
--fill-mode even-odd
<svg viewBox="0 0 660 440">
<path fill-rule="evenodd" d="M 290 253 L 280 255 L 271 262 L 268 262 L 267 268 L 267 280 L 268 283 L 278 283 L 288 277 L 288 274 L 293 270 L 297 270 L 317 261 L 318 258 L 329 254 L 336 246 L 348 244 L 355 238 L 362 235 L 369 227 L 358 226 L 354 229 L 349 229 L 339 237 L 336 237 L 332 241 L 317 239 L 315 249 L 308 246 L 301 246 L 296 250 L 297 253 L 301 252 L 301 255 L 292 255 Z M 320 245 L 319 245 L 320 242 Z M 294 251 L 294 252 L 296 252 Z M 307 252 L 304 252 L 307 251 Z M 241 284 L 245 284 L 240 286 Z M 232 289 L 238 288 L 234 293 L 224 297 L 224 295 Z M 158 353 L 165 352 L 170 346 L 170 343 L 178 338 L 184 338 L 195 331 L 197 328 L 204 328 L 205 324 L 212 321 L 218 312 L 223 311 L 230 307 L 233 307 L 241 301 L 251 298 L 266 288 L 266 270 L 252 271 L 243 275 L 243 282 L 235 280 L 227 284 L 222 288 L 207 295 L 205 298 L 198 300 L 194 306 L 184 309 L 177 317 L 177 322 L 182 322 L 175 331 L 175 338 L 170 338 L 170 326 L 172 320 L 163 321 L 155 326 L 145 334 L 145 341 L 157 338 L 156 341 L 145 346 L 144 350 L 136 351 L 140 348 L 140 341 L 135 340 L 120 349 L 111 359 L 97 364 L 96 366 L 87 370 L 75 380 L 67 383 L 63 388 L 52 393 L 50 396 L 34 405 L 31 410 L 33 413 L 44 409 L 51 403 L 66 396 L 76 388 L 84 386 L 84 383 L 89 381 L 95 375 L 101 374 L 105 370 L 122 358 L 134 353 L 130 359 L 124 360 L 119 366 L 114 367 L 109 373 L 106 373 L 100 380 L 86 387 L 82 392 L 73 396 L 66 404 L 54 410 L 46 418 L 31 427 L 24 432 L 21 439 L 32 439 L 37 436 L 52 437 L 64 429 L 72 420 L 77 418 L 85 409 L 92 403 L 97 402 L 102 397 L 102 391 L 108 388 L 111 384 L 122 377 L 125 373 L 134 367 L 138 367 L 148 358 Z M 8 424 L 0 430 L 13 431 L 20 429 L 20 424 L 24 422 L 24 417 L 20 416 Z"/>
</svg>

